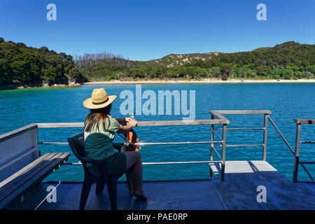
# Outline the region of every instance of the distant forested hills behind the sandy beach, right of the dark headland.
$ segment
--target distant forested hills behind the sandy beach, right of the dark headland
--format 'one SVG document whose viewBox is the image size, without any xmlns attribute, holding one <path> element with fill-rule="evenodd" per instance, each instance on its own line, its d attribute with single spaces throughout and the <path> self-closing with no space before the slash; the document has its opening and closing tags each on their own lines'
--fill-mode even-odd
<svg viewBox="0 0 315 224">
<path fill-rule="evenodd" d="M 293 41 L 248 52 L 167 55 L 147 62 L 102 53 L 76 57 L 89 80 L 169 78 L 314 78 L 315 45 Z"/>
</svg>

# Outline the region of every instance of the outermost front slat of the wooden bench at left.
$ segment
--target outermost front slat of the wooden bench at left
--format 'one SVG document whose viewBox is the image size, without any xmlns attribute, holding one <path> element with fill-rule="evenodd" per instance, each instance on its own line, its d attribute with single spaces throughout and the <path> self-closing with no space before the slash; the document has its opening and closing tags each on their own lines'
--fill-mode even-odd
<svg viewBox="0 0 315 224">
<path fill-rule="evenodd" d="M 25 183 L 18 186 L 13 192 L 8 193 L 6 197 L 3 198 L 0 202 L 0 209 L 6 206 L 9 202 L 14 200 L 16 197 L 25 192 L 29 187 L 34 186 L 34 184 L 39 183 L 46 176 L 48 176 L 53 169 L 56 169 L 59 165 L 61 165 L 64 161 L 68 160 L 70 153 L 57 153 L 53 159 L 45 162 L 45 166 L 41 166 L 41 169 L 38 171 L 36 175 L 31 176 Z"/>
</svg>

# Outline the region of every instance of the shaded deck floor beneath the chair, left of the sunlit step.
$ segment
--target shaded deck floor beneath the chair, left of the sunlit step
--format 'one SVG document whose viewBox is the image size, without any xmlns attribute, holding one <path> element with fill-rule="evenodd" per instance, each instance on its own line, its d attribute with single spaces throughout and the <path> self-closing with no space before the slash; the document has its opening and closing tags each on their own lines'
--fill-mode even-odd
<svg viewBox="0 0 315 224">
<path fill-rule="evenodd" d="M 32 197 L 10 209 L 35 209 L 48 194 L 45 183 L 38 186 Z M 43 202 L 40 209 L 78 209 L 82 183 L 62 183 L 57 187 L 57 202 Z M 214 185 L 209 180 L 200 181 L 158 181 L 144 183 L 147 202 L 130 199 L 127 183 L 118 183 L 118 209 L 224 209 Z M 95 194 L 92 186 L 85 209 L 110 209 L 107 188 L 101 195 Z"/>
</svg>

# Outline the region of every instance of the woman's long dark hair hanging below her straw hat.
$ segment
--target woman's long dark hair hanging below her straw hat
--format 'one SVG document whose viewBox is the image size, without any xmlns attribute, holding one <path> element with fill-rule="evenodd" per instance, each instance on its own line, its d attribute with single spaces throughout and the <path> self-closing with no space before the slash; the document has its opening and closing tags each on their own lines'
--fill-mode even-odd
<svg viewBox="0 0 315 224">
<path fill-rule="evenodd" d="M 92 132 L 92 129 L 94 128 L 95 125 L 97 125 L 96 129 L 99 130 L 99 121 L 101 119 L 103 122 L 103 128 L 104 130 L 106 130 L 106 127 L 105 127 L 106 120 L 108 120 L 109 125 L 111 125 L 111 120 L 109 120 L 110 112 L 111 112 L 111 104 L 101 109 L 90 109 L 90 113 L 85 118 L 84 131 Z"/>
</svg>

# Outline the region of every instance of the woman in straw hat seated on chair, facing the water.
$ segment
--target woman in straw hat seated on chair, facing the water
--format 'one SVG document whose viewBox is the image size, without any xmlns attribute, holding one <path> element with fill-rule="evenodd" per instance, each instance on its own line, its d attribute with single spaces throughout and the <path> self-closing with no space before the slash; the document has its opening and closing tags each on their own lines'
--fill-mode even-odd
<svg viewBox="0 0 315 224">
<path fill-rule="evenodd" d="M 132 118 L 115 119 L 110 115 L 111 103 L 115 99 L 115 95 L 108 96 L 104 88 L 101 88 L 94 89 L 92 97 L 83 102 L 83 105 L 90 109 L 90 114 L 87 115 L 84 123 L 85 157 L 104 160 L 108 176 L 122 176 L 126 173 L 130 197 L 146 200 L 142 187 L 140 153 L 137 151 L 118 153 L 112 145 L 116 132 L 127 134 L 137 125 L 137 120 Z M 87 169 L 91 174 L 99 176 L 96 166 L 89 165 Z"/>
</svg>

